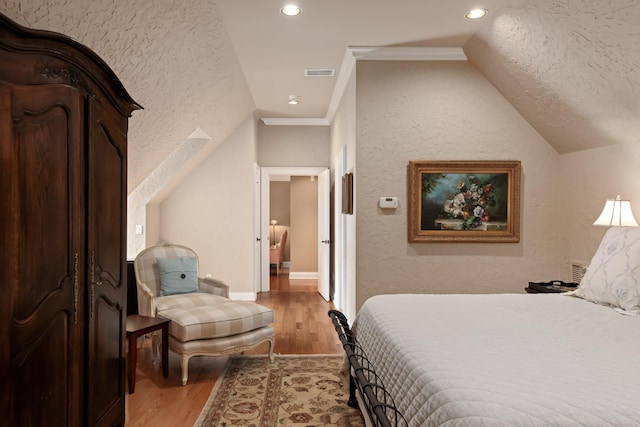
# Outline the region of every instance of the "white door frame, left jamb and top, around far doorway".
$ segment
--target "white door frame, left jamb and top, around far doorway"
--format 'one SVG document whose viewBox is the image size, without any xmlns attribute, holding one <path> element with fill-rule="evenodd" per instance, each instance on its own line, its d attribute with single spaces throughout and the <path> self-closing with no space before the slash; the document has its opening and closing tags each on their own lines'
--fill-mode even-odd
<svg viewBox="0 0 640 427">
<path fill-rule="evenodd" d="M 260 283 L 254 286 L 258 292 L 269 292 L 271 284 L 269 283 L 269 207 L 270 207 L 270 189 L 269 183 L 272 176 L 288 175 L 288 176 L 318 176 L 323 171 L 329 169 L 326 166 L 309 166 L 309 167 L 262 167 L 260 168 L 260 212 L 255 212 L 260 218 L 260 234 L 257 240 L 260 242 L 260 260 L 256 262 L 254 268 L 257 268 L 260 274 L 254 274 L 254 277 L 260 277 Z M 329 201 L 327 201 L 327 205 Z"/>
</svg>

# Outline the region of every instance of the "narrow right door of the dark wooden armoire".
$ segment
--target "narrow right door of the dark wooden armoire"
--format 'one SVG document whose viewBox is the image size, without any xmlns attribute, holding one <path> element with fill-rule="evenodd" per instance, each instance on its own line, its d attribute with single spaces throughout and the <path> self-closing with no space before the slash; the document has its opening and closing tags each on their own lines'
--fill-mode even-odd
<svg viewBox="0 0 640 427">
<path fill-rule="evenodd" d="M 126 368 L 126 120 L 90 99 L 88 123 L 89 420 L 110 425 L 125 400 L 124 384 L 115 387 L 113 379 L 124 380 Z"/>
</svg>

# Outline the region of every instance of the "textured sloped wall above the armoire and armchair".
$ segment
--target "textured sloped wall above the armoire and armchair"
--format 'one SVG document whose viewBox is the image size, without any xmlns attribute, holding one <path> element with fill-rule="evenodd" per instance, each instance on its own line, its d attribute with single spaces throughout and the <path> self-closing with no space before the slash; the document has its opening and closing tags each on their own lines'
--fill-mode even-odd
<svg viewBox="0 0 640 427">
<path fill-rule="evenodd" d="M 211 0 L 0 0 L 0 10 L 19 24 L 65 34 L 94 50 L 144 107 L 129 121 L 129 192 L 194 129 L 202 128 L 217 145 L 254 110 Z"/>
</svg>

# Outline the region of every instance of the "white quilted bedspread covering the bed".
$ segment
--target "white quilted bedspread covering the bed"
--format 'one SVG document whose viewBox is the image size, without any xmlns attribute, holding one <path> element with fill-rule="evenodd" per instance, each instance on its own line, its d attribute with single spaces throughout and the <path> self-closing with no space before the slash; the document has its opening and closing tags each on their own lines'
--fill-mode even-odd
<svg viewBox="0 0 640 427">
<path fill-rule="evenodd" d="M 640 426 L 640 318 L 559 294 L 384 295 L 356 337 L 409 426 Z"/>
</svg>

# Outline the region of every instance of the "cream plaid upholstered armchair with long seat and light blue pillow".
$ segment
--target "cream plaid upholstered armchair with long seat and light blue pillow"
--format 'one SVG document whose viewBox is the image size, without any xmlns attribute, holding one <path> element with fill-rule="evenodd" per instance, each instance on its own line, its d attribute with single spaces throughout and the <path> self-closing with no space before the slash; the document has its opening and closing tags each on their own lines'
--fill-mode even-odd
<svg viewBox="0 0 640 427">
<path fill-rule="evenodd" d="M 183 385 L 193 356 L 240 353 L 269 342 L 273 360 L 273 311 L 232 301 L 225 283 L 198 277 L 198 255 L 192 249 L 169 244 L 147 248 L 136 257 L 134 270 L 139 314 L 171 320 L 169 349 L 180 355 Z"/>
</svg>

